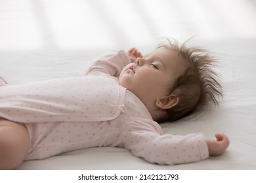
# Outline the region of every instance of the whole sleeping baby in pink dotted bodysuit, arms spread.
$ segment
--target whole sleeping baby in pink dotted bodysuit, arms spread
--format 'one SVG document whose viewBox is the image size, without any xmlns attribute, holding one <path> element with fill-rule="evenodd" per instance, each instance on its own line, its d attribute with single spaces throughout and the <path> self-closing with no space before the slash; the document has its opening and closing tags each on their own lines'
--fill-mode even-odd
<svg viewBox="0 0 256 183">
<path fill-rule="evenodd" d="M 96 146 L 127 148 L 162 165 L 221 155 L 229 145 L 224 134 L 163 135 L 159 125 L 217 105 L 212 63 L 204 50 L 169 40 L 146 56 L 136 48 L 102 56 L 83 76 L 2 84 L 0 169 Z"/>
</svg>

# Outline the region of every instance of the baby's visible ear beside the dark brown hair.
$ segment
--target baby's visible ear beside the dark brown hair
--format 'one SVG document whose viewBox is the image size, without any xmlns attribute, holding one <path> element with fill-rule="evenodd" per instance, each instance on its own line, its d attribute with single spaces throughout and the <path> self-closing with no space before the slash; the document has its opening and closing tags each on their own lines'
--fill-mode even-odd
<svg viewBox="0 0 256 183">
<path fill-rule="evenodd" d="M 179 97 L 175 94 L 171 94 L 166 97 L 162 97 L 161 99 L 156 100 L 156 106 L 161 109 L 168 109 L 175 107 L 179 103 Z"/>
</svg>

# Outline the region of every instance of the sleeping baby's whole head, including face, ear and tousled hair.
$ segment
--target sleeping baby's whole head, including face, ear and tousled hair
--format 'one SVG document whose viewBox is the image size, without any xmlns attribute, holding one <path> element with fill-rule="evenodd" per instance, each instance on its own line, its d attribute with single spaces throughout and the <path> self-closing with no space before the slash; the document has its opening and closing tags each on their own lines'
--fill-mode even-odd
<svg viewBox="0 0 256 183">
<path fill-rule="evenodd" d="M 172 122 L 201 106 L 218 105 L 221 84 L 211 69 L 214 59 L 200 48 L 174 40 L 127 65 L 119 83 L 133 92 L 157 122 Z"/>
</svg>

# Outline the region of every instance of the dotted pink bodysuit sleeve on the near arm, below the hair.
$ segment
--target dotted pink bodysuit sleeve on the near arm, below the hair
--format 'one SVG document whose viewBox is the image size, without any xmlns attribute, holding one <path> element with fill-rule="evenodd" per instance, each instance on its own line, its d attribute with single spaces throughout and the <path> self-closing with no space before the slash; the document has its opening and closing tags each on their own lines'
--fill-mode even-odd
<svg viewBox="0 0 256 183">
<path fill-rule="evenodd" d="M 123 141 L 125 148 L 135 156 L 160 165 L 190 163 L 209 157 L 207 144 L 201 133 L 162 135 L 160 127 L 152 127 L 149 123 L 136 122 L 130 129 L 128 127 L 123 133 Z"/>
</svg>

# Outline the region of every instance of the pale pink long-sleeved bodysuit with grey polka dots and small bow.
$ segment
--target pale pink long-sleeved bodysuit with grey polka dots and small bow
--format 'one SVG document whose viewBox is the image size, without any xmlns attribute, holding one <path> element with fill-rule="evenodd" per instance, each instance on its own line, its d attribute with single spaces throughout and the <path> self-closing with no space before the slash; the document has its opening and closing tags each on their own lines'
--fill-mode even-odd
<svg viewBox="0 0 256 183">
<path fill-rule="evenodd" d="M 0 86 L 0 117 L 24 123 L 26 159 L 83 148 L 127 148 L 151 163 L 173 165 L 209 157 L 202 134 L 165 134 L 140 99 L 118 84 L 129 58 L 114 51 L 91 61 L 83 76 Z"/>
</svg>

